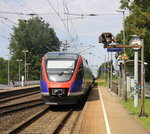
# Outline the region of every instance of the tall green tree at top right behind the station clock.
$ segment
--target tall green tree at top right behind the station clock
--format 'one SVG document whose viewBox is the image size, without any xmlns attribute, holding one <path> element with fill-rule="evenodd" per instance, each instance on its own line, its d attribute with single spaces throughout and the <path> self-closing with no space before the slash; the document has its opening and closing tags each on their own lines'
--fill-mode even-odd
<svg viewBox="0 0 150 134">
<path fill-rule="evenodd" d="M 146 75 L 150 75 L 150 0 L 121 0 L 121 8 L 130 11 L 130 15 L 125 20 L 126 44 L 129 44 L 133 35 L 138 35 L 144 39 L 145 62 L 148 63 Z M 117 35 L 117 41 L 121 43 L 122 31 Z M 126 49 L 127 55 L 133 59 L 133 50 Z M 140 53 L 139 53 L 140 59 Z M 146 80 L 150 80 L 146 77 Z"/>
</svg>

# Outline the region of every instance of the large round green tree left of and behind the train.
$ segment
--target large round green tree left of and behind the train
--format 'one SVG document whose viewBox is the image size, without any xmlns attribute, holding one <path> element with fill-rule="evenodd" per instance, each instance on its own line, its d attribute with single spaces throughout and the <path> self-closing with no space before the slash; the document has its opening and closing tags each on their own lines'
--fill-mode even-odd
<svg viewBox="0 0 150 134">
<path fill-rule="evenodd" d="M 29 20 L 19 20 L 18 26 L 13 27 L 10 50 L 13 65 L 13 78 L 18 78 L 18 64 L 16 59 L 23 59 L 21 72 L 24 71 L 24 53 L 26 53 L 29 66 L 29 78 L 39 79 L 42 56 L 48 51 L 59 51 L 60 41 L 53 28 L 49 27 L 44 20 L 35 17 Z"/>
</svg>

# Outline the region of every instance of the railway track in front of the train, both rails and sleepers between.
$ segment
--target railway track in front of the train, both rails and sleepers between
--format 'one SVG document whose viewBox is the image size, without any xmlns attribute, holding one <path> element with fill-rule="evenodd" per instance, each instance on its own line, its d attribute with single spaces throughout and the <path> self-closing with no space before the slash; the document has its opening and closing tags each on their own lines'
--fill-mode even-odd
<svg viewBox="0 0 150 134">
<path fill-rule="evenodd" d="M 11 130 L 9 134 L 14 133 L 47 133 L 55 134 L 61 131 L 61 128 L 65 125 L 73 109 L 67 111 L 51 111 L 49 108 L 44 109 L 34 117 L 30 118 L 23 124 L 20 124 L 14 130 Z M 49 125 L 48 128 L 44 128 L 44 124 Z M 36 129 L 37 128 L 37 129 Z M 36 131 L 35 131 L 36 130 Z"/>
</svg>

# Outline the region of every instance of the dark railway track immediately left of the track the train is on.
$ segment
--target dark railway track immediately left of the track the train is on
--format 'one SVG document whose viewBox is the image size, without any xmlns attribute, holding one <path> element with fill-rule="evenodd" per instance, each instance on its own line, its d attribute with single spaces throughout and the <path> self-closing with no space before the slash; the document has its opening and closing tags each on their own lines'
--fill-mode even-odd
<svg viewBox="0 0 150 134">
<path fill-rule="evenodd" d="M 13 104 L 13 105 L 1 106 L 0 107 L 0 115 L 2 116 L 2 115 L 18 112 L 21 110 L 29 109 L 29 108 L 43 105 L 43 104 L 44 103 L 42 102 L 42 100 L 38 99 L 38 100 L 17 103 L 17 104 Z"/>
</svg>

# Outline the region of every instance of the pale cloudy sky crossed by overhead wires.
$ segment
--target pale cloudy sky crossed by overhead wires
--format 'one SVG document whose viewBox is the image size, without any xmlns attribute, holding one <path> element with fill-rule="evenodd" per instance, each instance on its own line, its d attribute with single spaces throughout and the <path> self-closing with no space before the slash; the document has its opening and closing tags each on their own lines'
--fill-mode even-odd
<svg viewBox="0 0 150 134">
<path fill-rule="evenodd" d="M 94 74 L 110 59 L 98 37 L 103 32 L 116 36 L 122 30 L 123 15 L 116 12 L 120 0 L 1 0 L 0 5 L 0 57 L 5 59 L 13 26 L 17 26 L 18 19 L 31 18 L 31 13 L 48 22 L 62 43 L 67 40 L 68 52 L 81 52 Z"/>
</svg>

